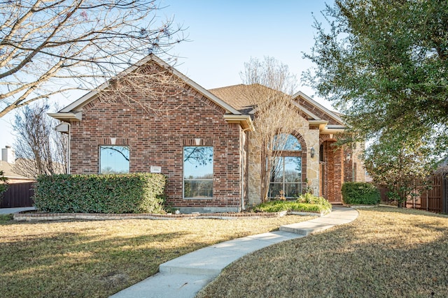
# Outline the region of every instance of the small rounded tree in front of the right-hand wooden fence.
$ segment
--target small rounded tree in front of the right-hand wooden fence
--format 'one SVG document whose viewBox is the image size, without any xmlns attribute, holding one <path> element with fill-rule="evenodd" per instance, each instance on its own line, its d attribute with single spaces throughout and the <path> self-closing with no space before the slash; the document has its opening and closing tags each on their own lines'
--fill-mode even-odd
<svg viewBox="0 0 448 298">
<path fill-rule="evenodd" d="M 365 151 L 365 167 L 376 184 L 387 186 L 398 207 L 428 186 L 433 147 L 422 138 L 383 135 Z"/>
</svg>

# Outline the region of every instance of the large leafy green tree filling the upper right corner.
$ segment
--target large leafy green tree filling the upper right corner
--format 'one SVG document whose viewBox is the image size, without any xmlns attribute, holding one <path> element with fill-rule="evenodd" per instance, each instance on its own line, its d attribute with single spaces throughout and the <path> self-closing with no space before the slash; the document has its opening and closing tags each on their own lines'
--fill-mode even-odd
<svg viewBox="0 0 448 298">
<path fill-rule="evenodd" d="M 316 19 L 304 79 L 360 136 L 447 142 L 448 1 L 337 0 Z"/>
</svg>

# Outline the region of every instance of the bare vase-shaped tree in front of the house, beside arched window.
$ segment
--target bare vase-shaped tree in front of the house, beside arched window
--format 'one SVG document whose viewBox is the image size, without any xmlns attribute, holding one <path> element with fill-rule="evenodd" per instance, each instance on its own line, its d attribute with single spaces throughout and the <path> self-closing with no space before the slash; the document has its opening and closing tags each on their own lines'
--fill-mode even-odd
<svg viewBox="0 0 448 298">
<path fill-rule="evenodd" d="M 251 59 L 244 64 L 241 78 L 248 84 L 248 98 L 253 106 L 255 138 L 262 147 L 261 200 L 268 200 L 269 182 L 276 168 L 281 149 L 288 142 L 288 135 L 301 124 L 292 95 L 296 78 L 288 66 L 272 57 L 263 61 Z"/>
</svg>

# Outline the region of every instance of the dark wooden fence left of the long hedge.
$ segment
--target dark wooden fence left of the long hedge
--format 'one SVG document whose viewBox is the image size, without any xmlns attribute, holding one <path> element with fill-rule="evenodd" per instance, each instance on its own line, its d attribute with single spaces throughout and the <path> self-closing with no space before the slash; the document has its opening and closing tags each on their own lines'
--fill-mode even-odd
<svg viewBox="0 0 448 298">
<path fill-rule="evenodd" d="M 33 206 L 33 182 L 9 184 L 8 190 L 0 198 L 0 208 Z"/>
</svg>

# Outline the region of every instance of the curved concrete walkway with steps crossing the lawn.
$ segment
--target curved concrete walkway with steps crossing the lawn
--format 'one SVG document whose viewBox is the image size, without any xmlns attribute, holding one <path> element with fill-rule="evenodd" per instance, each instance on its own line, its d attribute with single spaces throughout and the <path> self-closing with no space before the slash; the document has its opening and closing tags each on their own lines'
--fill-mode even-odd
<svg viewBox="0 0 448 298">
<path fill-rule="evenodd" d="M 279 231 L 215 244 L 160 265 L 159 273 L 111 296 L 113 298 L 193 298 L 221 271 L 242 256 L 282 241 L 350 223 L 358 211 L 333 206 L 332 212 L 302 223 L 283 225 Z"/>
</svg>

